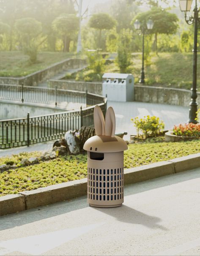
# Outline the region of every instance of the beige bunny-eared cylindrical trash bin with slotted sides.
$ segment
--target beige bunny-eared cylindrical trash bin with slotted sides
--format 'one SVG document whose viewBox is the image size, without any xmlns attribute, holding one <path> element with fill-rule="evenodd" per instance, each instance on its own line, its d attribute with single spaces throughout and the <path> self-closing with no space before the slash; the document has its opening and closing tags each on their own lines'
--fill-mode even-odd
<svg viewBox="0 0 200 256">
<path fill-rule="evenodd" d="M 83 149 L 88 151 L 88 203 L 95 207 L 117 207 L 123 203 L 123 151 L 126 142 L 115 136 L 115 113 L 109 107 L 104 120 L 101 108 L 94 109 L 96 135 Z"/>
</svg>

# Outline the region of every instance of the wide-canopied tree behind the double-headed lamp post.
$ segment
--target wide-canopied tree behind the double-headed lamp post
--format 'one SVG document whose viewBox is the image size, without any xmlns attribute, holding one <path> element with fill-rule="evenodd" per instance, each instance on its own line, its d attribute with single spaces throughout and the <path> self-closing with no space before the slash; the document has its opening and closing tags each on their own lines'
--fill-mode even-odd
<svg viewBox="0 0 200 256">
<path fill-rule="evenodd" d="M 139 20 L 141 27 L 146 27 L 146 23 L 149 19 L 153 20 L 153 29 L 149 30 L 148 33 L 155 34 L 154 48 L 157 52 L 157 35 L 175 34 L 178 28 L 178 17 L 176 14 L 171 14 L 162 8 L 153 7 L 150 11 L 138 14 L 132 20 L 132 24 L 135 20 Z"/>
</svg>

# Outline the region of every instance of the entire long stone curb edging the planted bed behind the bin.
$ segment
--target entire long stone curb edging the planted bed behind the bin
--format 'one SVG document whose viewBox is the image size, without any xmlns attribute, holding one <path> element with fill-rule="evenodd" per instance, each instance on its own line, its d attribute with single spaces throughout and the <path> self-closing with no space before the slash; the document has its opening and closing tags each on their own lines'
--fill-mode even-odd
<svg viewBox="0 0 200 256">
<path fill-rule="evenodd" d="M 124 185 L 200 167 L 200 153 L 124 170 Z M 87 178 L 0 197 L 0 215 L 71 200 L 87 194 Z"/>
</svg>

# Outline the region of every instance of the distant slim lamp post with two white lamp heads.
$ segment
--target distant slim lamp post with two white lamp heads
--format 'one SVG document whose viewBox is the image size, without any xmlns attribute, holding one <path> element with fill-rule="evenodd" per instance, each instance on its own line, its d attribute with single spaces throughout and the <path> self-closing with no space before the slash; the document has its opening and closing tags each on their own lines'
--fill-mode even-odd
<svg viewBox="0 0 200 256">
<path fill-rule="evenodd" d="M 140 29 L 140 21 L 136 20 L 134 22 L 134 28 L 139 30 Z M 142 31 L 142 70 L 141 70 L 141 78 L 139 80 L 140 84 L 144 84 L 145 83 L 145 68 L 144 68 L 144 49 L 145 49 L 145 31 L 146 31 L 146 27 L 148 30 L 153 28 L 153 21 L 152 20 L 148 20 L 148 22 L 146 23 L 146 26 L 143 25 L 141 28 Z"/>
</svg>

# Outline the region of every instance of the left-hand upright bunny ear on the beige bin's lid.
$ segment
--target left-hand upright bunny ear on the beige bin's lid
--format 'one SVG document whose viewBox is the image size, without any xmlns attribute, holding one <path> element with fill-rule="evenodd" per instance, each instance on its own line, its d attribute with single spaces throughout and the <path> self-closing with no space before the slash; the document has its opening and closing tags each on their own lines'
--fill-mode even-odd
<svg viewBox="0 0 200 256">
<path fill-rule="evenodd" d="M 94 108 L 94 127 L 96 135 L 105 135 L 104 115 L 98 105 Z"/>
</svg>

